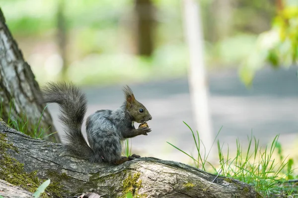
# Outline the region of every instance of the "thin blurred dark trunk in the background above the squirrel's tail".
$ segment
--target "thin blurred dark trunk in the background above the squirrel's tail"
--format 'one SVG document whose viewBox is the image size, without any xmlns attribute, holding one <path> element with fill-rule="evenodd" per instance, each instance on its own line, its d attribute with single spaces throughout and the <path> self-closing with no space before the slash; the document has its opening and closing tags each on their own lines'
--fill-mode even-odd
<svg viewBox="0 0 298 198">
<path fill-rule="evenodd" d="M 59 52 L 63 61 L 61 75 L 63 79 L 67 79 L 67 28 L 65 18 L 65 0 L 58 0 L 57 9 L 57 42 L 59 46 Z"/>
</svg>

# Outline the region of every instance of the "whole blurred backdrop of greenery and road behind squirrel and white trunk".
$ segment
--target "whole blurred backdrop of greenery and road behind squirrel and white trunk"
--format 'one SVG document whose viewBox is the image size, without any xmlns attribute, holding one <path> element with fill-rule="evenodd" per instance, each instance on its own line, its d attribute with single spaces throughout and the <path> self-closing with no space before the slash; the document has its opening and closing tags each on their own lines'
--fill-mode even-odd
<svg viewBox="0 0 298 198">
<path fill-rule="evenodd" d="M 298 144 L 297 0 L 197 0 L 204 35 L 212 134 L 233 148 L 251 133 Z M 149 109 L 149 136 L 133 152 L 188 162 L 197 130 L 189 89 L 183 0 L 0 0 L 6 23 L 40 85 L 73 81 L 88 112 L 115 109 L 131 86 Z M 273 68 L 279 68 L 273 69 Z M 258 72 L 257 72 L 258 71 Z M 256 73 L 257 72 L 257 73 Z M 56 128 L 58 107 L 49 106 Z"/>
</svg>

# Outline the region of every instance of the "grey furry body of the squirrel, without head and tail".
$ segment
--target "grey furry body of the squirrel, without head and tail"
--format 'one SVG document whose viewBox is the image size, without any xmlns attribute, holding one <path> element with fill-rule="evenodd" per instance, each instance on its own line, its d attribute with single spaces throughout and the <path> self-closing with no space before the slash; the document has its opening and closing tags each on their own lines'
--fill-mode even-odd
<svg viewBox="0 0 298 198">
<path fill-rule="evenodd" d="M 121 159 L 122 132 L 135 129 L 133 119 L 122 105 L 116 110 L 99 110 L 87 118 L 86 133 L 95 161 L 112 163 Z M 102 160 L 103 159 L 103 160 Z"/>
</svg>

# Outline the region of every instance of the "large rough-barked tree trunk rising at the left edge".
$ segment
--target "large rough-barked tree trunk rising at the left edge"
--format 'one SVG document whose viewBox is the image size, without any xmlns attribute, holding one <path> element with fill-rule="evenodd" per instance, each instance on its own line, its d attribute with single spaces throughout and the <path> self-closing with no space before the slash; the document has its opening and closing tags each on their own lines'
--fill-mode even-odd
<svg viewBox="0 0 298 198">
<path fill-rule="evenodd" d="M 44 135 L 56 132 L 52 118 L 45 105 L 37 101 L 41 97 L 38 83 L 28 63 L 24 60 L 23 54 L 18 49 L 9 32 L 3 13 L 0 9 L 0 102 L 1 118 L 7 122 L 9 118 L 27 116 L 28 131 L 33 131 L 33 126 L 38 124 L 39 130 L 44 130 Z M 11 105 L 13 100 L 14 105 Z M 44 111 L 43 111 L 44 110 Z M 48 138 L 48 141 L 60 143 L 58 134 Z"/>
</svg>

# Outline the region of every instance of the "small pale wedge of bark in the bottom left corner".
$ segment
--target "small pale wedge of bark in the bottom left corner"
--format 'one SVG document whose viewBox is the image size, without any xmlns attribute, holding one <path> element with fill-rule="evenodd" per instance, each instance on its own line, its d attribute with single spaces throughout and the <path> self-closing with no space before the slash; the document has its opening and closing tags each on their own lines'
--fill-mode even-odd
<svg viewBox="0 0 298 198">
<path fill-rule="evenodd" d="M 3 198 L 32 198 L 32 193 L 0 180 L 0 196 Z"/>
</svg>

